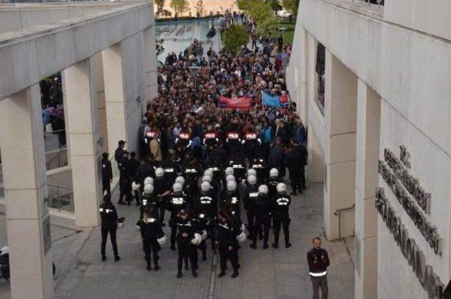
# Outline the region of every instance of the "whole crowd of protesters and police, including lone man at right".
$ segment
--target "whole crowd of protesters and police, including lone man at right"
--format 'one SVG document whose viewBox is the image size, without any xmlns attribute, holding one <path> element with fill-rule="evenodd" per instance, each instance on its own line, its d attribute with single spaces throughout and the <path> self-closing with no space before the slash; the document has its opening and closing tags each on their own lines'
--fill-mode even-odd
<svg viewBox="0 0 451 299">
<path fill-rule="evenodd" d="M 219 253 L 219 277 L 226 274 L 227 261 L 232 277 L 239 275 L 239 249 L 245 240 L 251 240 L 250 248 L 257 249 L 259 240 L 268 248 L 271 226 L 272 247 L 279 247 L 281 229 L 285 248 L 291 246 L 289 209 L 291 196 L 306 188 L 307 130 L 294 102 L 277 109 L 262 102 L 261 92 L 288 94 L 285 68 L 271 53 L 277 47 L 278 54 L 289 56 L 291 49 L 271 38 L 261 44 L 263 49 L 243 47 L 235 56 L 211 48 L 203 55 L 195 40 L 178 56 L 169 54 L 166 66 L 158 70 L 159 96 L 148 103 L 138 132 L 139 152 L 129 153 L 125 141 L 118 142 L 113 162 L 120 171 L 118 205 L 131 205 L 135 198 L 140 207 L 136 226 L 149 271 L 152 260 L 154 270 L 160 269 L 158 252 L 166 239 L 171 250 L 178 250 L 177 277 L 183 276 L 184 264 L 197 277 L 198 251 L 206 260 L 208 239 Z M 249 97 L 252 104 L 223 109 L 221 97 Z M 287 169 L 291 192 L 284 183 Z M 119 260 L 116 231 L 111 231 L 118 216 L 111 202 L 108 153 L 102 171 L 101 257 L 106 260 L 110 234 Z M 163 232 L 166 223 L 169 238 Z M 322 279 L 315 283 L 324 294 L 328 257 L 321 240 L 315 242 L 316 249 L 309 252 L 310 273 L 312 282 Z"/>
</svg>

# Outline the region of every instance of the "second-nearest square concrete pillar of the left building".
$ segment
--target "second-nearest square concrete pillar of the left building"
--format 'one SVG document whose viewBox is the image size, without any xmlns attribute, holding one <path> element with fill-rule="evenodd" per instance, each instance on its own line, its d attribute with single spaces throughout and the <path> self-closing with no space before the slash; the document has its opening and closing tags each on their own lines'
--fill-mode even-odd
<svg viewBox="0 0 451 299">
<path fill-rule="evenodd" d="M 63 71 L 72 163 L 75 224 L 97 226 L 101 200 L 101 153 L 97 128 L 93 59 L 80 61 Z"/>
</svg>

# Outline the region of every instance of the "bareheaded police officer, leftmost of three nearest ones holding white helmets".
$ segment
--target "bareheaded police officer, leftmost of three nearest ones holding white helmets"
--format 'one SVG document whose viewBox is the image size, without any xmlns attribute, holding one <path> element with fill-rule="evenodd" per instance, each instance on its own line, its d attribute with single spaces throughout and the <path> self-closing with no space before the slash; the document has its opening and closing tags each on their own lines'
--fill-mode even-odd
<svg viewBox="0 0 451 299">
<path fill-rule="evenodd" d="M 158 238 L 164 236 L 161 230 L 160 221 L 158 219 L 158 214 L 156 214 L 154 207 L 147 205 L 144 208 L 144 213 L 137 221 L 136 225 L 140 228 L 141 238 L 142 238 L 142 249 L 144 250 L 144 255 L 147 262 L 147 271 L 151 271 L 150 255 L 151 252 L 154 255 L 154 270 L 158 271 L 160 269 L 158 265 L 158 249 L 160 247 L 158 243 Z"/>
</svg>

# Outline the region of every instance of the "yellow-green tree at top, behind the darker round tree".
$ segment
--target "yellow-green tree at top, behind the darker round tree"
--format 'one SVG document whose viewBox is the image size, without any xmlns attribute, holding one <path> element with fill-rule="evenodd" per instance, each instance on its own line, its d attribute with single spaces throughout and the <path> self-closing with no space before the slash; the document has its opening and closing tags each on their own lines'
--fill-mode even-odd
<svg viewBox="0 0 451 299">
<path fill-rule="evenodd" d="M 258 35 L 266 37 L 277 28 L 277 18 L 271 8 L 271 1 L 237 0 L 237 6 L 257 23 Z"/>
</svg>

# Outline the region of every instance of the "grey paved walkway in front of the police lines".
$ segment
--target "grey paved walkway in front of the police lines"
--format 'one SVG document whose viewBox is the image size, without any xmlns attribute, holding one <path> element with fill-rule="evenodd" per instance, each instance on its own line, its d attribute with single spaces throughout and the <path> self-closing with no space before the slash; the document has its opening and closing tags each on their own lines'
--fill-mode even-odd
<svg viewBox="0 0 451 299">
<path fill-rule="evenodd" d="M 159 253 L 161 270 L 146 271 L 140 233 L 133 227 L 138 209 L 118 206 L 118 213 L 127 218 L 125 227 L 118 231 L 120 262 L 113 261 L 110 244 L 108 260 L 100 261 L 99 228 L 69 228 L 70 221 L 51 219 L 57 269 L 55 298 L 311 298 L 306 252 L 311 248 L 312 237 L 323 236 L 322 185 L 309 185 L 303 195 L 293 200 L 292 248 L 263 250 L 259 243 L 259 249 L 252 250 L 249 241 L 243 243 L 237 279 L 230 279 L 231 271 L 221 279 L 216 277 L 219 269 L 214 267 L 216 261 L 211 252 L 205 262 L 199 261 L 197 279 L 192 278 L 190 271 L 176 279 L 177 254 L 169 250 L 168 244 Z M 0 243 L 6 240 L 5 222 L 5 215 L 0 214 Z M 330 298 L 353 298 L 354 269 L 349 250 L 353 250 L 354 240 L 329 243 L 323 238 L 323 247 L 330 255 Z M 6 281 L 0 281 L 0 298 L 9 298 Z"/>
</svg>

